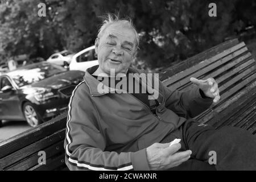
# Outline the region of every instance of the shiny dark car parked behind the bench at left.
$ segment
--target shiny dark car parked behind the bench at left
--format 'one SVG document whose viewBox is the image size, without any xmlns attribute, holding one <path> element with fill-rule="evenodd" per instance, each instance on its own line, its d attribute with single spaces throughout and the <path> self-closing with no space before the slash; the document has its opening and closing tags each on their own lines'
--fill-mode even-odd
<svg viewBox="0 0 256 182">
<path fill-rule="evenodd" d="M 32 127 L 67 110 L 84 72 L 43 61 L 0 76 L 0 122 L 26 120 Z"/>
</svg>

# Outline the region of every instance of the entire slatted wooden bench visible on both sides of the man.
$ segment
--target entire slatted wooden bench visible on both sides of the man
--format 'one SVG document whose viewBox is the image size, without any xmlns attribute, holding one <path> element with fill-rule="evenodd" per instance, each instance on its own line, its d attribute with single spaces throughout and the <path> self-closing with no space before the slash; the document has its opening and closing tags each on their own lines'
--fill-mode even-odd
<svg viewBox="0 0 256 182">
<path fill-rule="evenodd" d="M 193 85 L 190 77 L 217 80 L 221 100 L 196 117 L 215 127 L 232 125 L 256 133 L 255 60 L 244 43 L 230 40 L 168 68 L 163 83 L 177 90 Z M 0 170 L 67 170 L 64 138 L 67 113 L 0 143 Z M 46 151 L 46 165 L 38 164 Z"/>
</svg>

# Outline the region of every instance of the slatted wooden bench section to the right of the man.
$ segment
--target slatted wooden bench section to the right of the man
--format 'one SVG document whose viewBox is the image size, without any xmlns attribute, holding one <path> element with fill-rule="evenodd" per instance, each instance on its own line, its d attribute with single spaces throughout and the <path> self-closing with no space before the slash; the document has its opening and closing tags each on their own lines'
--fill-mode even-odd
<svg viewBox="0 0 256 182">
<path fill-rule="evenodd" d="M 195 118 L 197 121 L 216 128 L 242 127 L 256 133 L 255 60 L 245 43 L 235 39 L 216 46 L 168 69 L 160 79 L 172 89 L 188 90 L 194 86 L 190 77 L 213 77 L 221 95 L 217 104 Z"/>
</svg>

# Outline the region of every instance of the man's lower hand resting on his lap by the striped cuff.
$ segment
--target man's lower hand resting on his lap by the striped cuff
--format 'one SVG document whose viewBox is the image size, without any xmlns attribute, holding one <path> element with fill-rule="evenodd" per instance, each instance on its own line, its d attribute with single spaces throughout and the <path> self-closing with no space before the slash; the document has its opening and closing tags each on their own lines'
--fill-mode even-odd
<svg viewBox="0 0 256 182">
<path fill-rule="evenodd" d="M 154 143 L 146 148 L 150 170 L 166 170 L 179 166 L 190 158 L 191 150 L 177 152 L 181 147 L 180 143 L 169 145 L 170 143 Z"/>
</svg>

